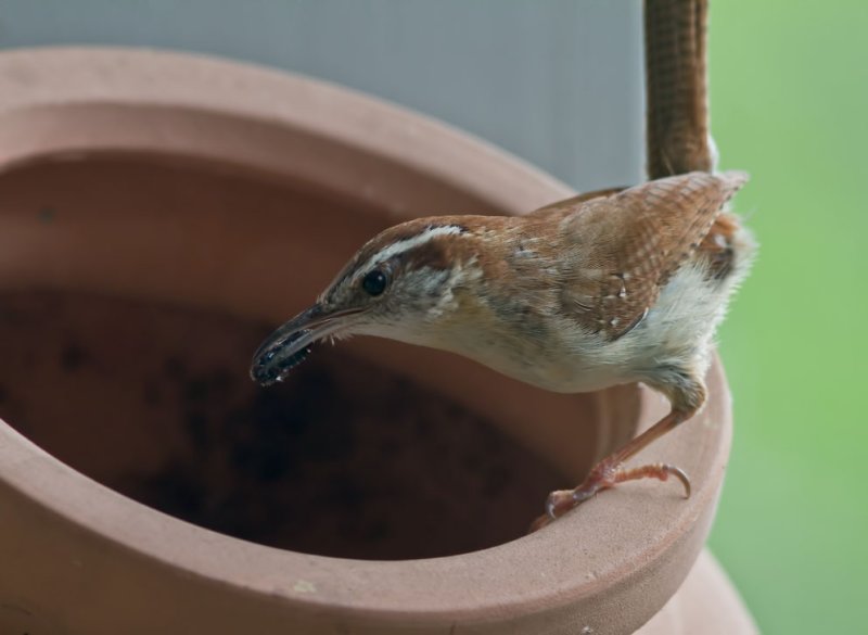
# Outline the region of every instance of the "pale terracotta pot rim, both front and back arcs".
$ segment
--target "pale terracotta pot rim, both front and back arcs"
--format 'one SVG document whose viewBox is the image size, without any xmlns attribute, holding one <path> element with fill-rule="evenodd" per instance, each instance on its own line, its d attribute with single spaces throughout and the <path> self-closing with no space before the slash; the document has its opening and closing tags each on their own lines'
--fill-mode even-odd
<svg viewBox="0 0 868 635">
<path fill-rule="evenodd" d="M 103 109 L 101 114 L 149 107 L 220 113 L 276 129 L 303 129 L 353 152 L 386 156 L 436 175 L 516 212 L 570 193 L 562 183 L 467 135 L 345 89 L 237 63 L 120 49 L 0 54 L 0 169 L 40 155 L 75 152 L 88 143 L 131 151 L 152 148 L 148 143 L 153 142 L 153 128 L 137 137 L 136 130 L 112 128 L 110 120 L 104 138 L 99 125 L 87 136 L 62 129 L 64 109 L 80 113 L 87 107 Z M 183 145 L 196 141 L 195 131 L 191 137 L 186 130 L 164 132 L 157 141 L 169 151 L 219 151 L 207 139 L 200 139 L 200 147 Z M 273 154 L 268 152 L 245 160 L 270 161 Z M 483 173 L 486 178 L 478 178 Z M 587 602 L 611 593 L 609 606 L 629 612 L 624 605 L 629 596 L 629 601 L 643 605 L 639 613 L 647 619 L 689 570 L 720 490 L 731 428 L 726 380 L 717 361 L 709 383 L 705 410 L 652 450 L 654 457 L 665 456 L 691 473 L 694 488 L 689 500 L 672 484 L 636 483 L 607 492 L 535 534 L 455 557 L 346 560 L 225 536 L 100 485 L 4 422 L 0 494 L 7 490 L 26 497 L 140 560 L 143 556 L 194 579 L 306 609 L 328 605 L 347 613 L 392 615 L 401 623 L 430 618 L 496 622 L 564 605 L 590 607 Z M 647 423 L 665 411 L 665 404 L 644 391 L 641 409 Z M 666 559 L 677 561 L 674 567 L 681 577 L 655 589 Z"/>
</svg>

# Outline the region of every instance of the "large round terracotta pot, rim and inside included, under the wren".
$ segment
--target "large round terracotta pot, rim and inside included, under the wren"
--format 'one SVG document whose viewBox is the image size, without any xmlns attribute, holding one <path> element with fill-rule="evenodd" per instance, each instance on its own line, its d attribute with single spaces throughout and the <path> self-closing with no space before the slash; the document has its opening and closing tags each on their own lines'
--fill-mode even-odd
<svg viewBox="0 0 868 635">
<path fill-rule="evenodd" d="M 282 391 L 244 377 L 376 230 L 567 187 L 333 86 L 122 50 L 0 55 L 0 166 L 3 632 L 631 633 L 700 555 L 731 430 L 718 364 L 646 457 L 687 469 L 689 500 L 630 484 L 529 536 L 659 396 L 553 395 L 376 340 Z M 751 631 L 703 562 L 642 633 L 697 624 L 685 594 Z"/>
</svg>

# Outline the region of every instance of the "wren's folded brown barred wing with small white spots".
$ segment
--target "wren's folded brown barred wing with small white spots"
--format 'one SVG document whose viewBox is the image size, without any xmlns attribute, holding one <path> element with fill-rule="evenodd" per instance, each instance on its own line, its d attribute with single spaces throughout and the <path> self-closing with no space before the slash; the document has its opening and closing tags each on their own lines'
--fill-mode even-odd
<svg viewBox="0 0 868 635">
<path fill-rule="evenodd" d="M 561 221 L 574 245 L 562 310 L 613 340 L 633 329 L 746 180 L 742 173 L 690 173 L 579 203 Z"/>
</svg>

